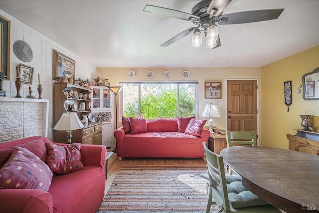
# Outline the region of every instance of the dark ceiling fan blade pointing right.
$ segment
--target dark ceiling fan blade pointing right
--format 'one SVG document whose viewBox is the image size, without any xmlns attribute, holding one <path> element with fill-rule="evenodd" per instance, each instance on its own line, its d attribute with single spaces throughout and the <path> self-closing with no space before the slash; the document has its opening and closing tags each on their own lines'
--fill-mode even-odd
<svg viewBox="0 0 319 213">
<path fill-rule="evenodd" d="M 261 9 L 221 15 L 219 24 L 250 23 L 277 19 L 284 9 Z"/>
</svg>

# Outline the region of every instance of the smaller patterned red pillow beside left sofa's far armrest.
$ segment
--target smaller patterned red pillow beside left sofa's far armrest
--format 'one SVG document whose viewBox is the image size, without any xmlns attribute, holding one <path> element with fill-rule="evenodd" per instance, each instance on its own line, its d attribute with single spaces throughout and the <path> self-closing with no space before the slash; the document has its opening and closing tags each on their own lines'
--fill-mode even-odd
<svg viewBox="0 0 319 213">
<path fill-rule="evenodd" d="M 46 143 L 45 147 L 48 151 L 46 164 L 52 172 L 65 174 L 84 169 L 81 162 L 80 143 L 63 146 Z"/>
</svg>

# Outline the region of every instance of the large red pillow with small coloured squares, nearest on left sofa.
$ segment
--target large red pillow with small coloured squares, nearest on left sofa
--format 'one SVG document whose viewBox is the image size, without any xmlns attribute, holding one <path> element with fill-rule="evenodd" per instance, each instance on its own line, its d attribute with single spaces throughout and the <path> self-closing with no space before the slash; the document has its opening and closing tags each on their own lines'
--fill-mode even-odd
<svg viewBox="0 0 319 213">
<path fill-rule="evenodd" d="M 48 191 L 53 174 L 50 168 L 29 150 L 16 147 L 0 169 L 0 188 Z"/>
</svg>

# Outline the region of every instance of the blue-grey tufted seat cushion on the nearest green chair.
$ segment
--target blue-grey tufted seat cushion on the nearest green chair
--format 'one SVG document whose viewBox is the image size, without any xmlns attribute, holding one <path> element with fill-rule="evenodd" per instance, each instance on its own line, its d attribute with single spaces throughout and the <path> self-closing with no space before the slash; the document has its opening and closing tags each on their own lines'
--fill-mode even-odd
<svg viewBox="0 0 319 213">
<path fill-rule="evenodd" d="M 226 176 L 228 200 L 233 208 L 246 208 L 265 206 L 268 203 L 258 196 L 248 191 L 241 182 L 240 176 Z M 222 193 L 220 184 L 215 187 L 219 193 Z"/>
</svg>

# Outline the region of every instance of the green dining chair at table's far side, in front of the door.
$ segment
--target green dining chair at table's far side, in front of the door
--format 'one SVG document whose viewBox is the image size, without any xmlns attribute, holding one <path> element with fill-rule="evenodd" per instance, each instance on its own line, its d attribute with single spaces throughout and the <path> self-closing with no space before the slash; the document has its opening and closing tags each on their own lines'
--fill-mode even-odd
<svg viewBox="0 0 319 213">
<path fill-rule="evenodd" d="M 250 144 L 252 146 L 257 146 L 257 140 L 256 140 L 256 132 L 232 132 L 227 131 L 226 132 L 226 141 L 227 141 L 227 147 L 231 147 L 236 144 Z M 232 175 L 233 170 L 229 168 L 228 174 Z"/>
</svg>

